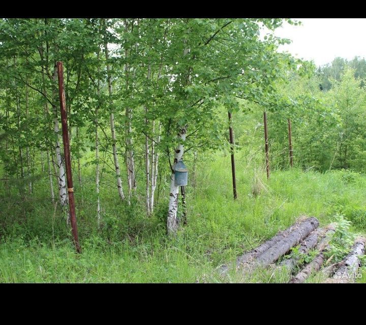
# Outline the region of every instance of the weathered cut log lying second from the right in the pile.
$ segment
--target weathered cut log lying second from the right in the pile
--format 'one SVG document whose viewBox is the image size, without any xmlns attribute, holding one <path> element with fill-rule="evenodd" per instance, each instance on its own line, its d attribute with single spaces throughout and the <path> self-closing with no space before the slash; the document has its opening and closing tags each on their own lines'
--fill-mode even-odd
<svg viewBox="0 0 366 325">
<path fill-rule="evenodd" d="M 325 229 L 322 240 L 317 245 L 319 254 L 316 255 L 306 267 L 304 267 L 299 273 L 291 278 L 289 283 L 302 283 L 304 282 L 312 272 L 318 272 L 324 263 L 324 251 L 326 250 L 330 241 L 330 234 L 334 233 L 335 228 L 333 224 L 328 225 Z"/>
</svg>

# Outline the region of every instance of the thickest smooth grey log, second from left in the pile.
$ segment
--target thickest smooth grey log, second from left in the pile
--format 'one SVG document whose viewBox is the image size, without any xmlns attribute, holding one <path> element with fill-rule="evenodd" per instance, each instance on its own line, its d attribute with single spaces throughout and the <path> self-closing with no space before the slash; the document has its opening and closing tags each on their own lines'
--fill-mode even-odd
<svg viewBox="0 0 366 325">
<path fill-rule="evenodd" d="M 301 240 L 307 237 L 312 231 L 317 229 L 319 221 L 317 218 L 311 217 L 289 233 L 288 236 L 281 239 L 277 244 L 273 245 L 262 254 L 260 254 L 256 261 L 256 266 L 266 267 L 277 261 L 282 255 L 285 255 L 291 247 L 296 246 Z"/>
</svg>

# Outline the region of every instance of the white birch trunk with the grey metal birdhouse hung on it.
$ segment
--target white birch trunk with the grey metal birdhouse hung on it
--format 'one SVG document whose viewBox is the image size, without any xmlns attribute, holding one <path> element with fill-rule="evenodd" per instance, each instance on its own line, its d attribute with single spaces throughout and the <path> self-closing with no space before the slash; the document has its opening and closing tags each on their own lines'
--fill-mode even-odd
<svg viewBox="0 0 366 325">
<path fill-rule="evenodd" d="M 182 128 L 178 133 L 178 138 L 181 141 L 186 140 L 187 126 Z M 182 158 L 184 153 L 184 146 L 179 143 L 175 149 L 174 154 L 174 164 L 172 166 L 173 170 L 176 163 Z M 178 230 L 177 223 L 177 211 L 178 211 L 178 192 L 179 186 L 175 185 L 175 175 L 174 172 L 170 175 L 170 193 L 169 193 L 169 208 L 168 208 L 168 218 L 167 218 L 167 233 L 168 235 L 176 235 Z"/>
</svg>

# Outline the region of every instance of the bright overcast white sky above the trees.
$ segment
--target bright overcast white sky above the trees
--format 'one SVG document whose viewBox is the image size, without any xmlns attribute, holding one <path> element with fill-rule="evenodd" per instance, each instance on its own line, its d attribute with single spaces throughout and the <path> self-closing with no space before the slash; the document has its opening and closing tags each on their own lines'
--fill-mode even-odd
<svg viewBox="0 0 366 325">
<path fill-rule="evenodd" d="M 366 57 L 366 18 L 296 18 L 300 26 L 285 23 L 275 34 L 292 40 L 279 50 L 293 56 L 313 59 L 317 66 L 331 62 L 335 57 L 352 59 Z"/>
</svg>

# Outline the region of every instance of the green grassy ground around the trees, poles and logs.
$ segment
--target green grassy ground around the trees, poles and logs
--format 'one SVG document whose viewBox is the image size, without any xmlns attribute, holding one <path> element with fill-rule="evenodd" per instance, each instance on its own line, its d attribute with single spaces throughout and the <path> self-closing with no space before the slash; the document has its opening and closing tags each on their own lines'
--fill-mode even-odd
<svg viewBox="0 0 366 325">
<path fill-rule="evenodd" d="M 300 215 L 315 216 L 322 226 L 343 213 L 353 221 L 354 232 L 365 233 L 364 175 L 293 169 L 273 171 L 267 181 L 243 157 L 242 152 L 236 155 L 236 201 L 229 156 L 217 153 L 199 165 L 196 187 L 187 188 L 188 225 L 176 239 L 165 236 L 167 184 L 154 216 L 147 218 L 142 197 L 128 207 L 105 183 L 104 227 L 97 232 L 94 167 L 84 167 L 83 187 L 75 186 L 82 254 L 74 252 L 64 214 L 48 200 L 47 179 L 36 182 L 31 197 L 16 188 L 9 196 L 2 188 L 0 282 L 287 282 L 289 275 L 280 269 L 257 270 L 246 277 L 231 273 L 225 279 L 215 269 Z M 258 196 L 252 194 L 253 186 L 261 188 Z M 362 272 L 358 282 L 366 282 Z M 320 280 L 313 276 L 309 281 Z"/>
</svg>

